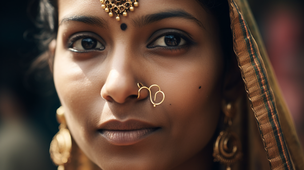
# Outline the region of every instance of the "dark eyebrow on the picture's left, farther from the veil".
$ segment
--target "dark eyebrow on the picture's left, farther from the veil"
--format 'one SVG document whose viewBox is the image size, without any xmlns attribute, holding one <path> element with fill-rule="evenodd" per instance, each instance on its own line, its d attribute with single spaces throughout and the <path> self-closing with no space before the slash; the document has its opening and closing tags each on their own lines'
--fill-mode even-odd
<svg viewBox="0 0 304 170">
<path fill-rule="evenodd" d="M 81 16 L 81 15 L 75 15 L 75 16 L 63 18 L 59 25 L 65 23 L 65 22 L 70 22 L 70 21 L 71 22 L 82 22 L 82 23 L 85 23 L 88 25 L 98 26 L 101 28 L 108 28 L 107 22 L 102 18 L 98 18 L 98 17 L 94 17 L 94 16 Z"/>
</svg>

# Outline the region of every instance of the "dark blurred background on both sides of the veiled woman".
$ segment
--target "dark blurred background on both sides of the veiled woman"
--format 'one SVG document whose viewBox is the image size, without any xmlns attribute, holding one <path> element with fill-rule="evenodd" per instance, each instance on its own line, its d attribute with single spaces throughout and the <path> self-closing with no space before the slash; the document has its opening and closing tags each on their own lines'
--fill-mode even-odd
<svg viewBox="0 0 304 170">
<path fill-rule="evenodd" d="M 32 71 L 41 54 L 29 14 L 31 0 L 2 1 L 0 36 L 0 169 L 56 169 L 49 144 L 60 106 L 48 67 Z M 304 1 L 249 0 L 283 96 L 304 146 Z M 13 158 L 13 159 L 12 159 Z M 12 162 L 14 160 L 14 162 Z M 18 162 L 18 163 L 16 163 Z"/>
</svg>

